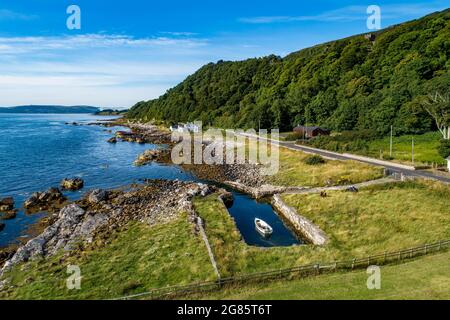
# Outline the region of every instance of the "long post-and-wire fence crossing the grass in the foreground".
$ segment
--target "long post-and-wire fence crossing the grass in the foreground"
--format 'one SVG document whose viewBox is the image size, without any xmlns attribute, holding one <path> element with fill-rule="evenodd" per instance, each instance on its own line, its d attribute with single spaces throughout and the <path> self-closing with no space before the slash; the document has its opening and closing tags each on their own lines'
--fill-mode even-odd
<svg viewBox="0 0 450 320">
<path fill-rule="evenodd" d="M 229 278 L 222 278 L 215 281 L 205 281 L 182 286 L 170 286 L 153 289 L 139 294 L 129 295 L 117 298 L 116 300 L 130 299 L 167 299 L 177 296 L 185 296 L 188 294 L 198 294 L 208 291 L 220 290 L 224 287 L 233 285 L 242 285 L 249 283 L 258 283 L 261 281 L 273 281 L 286 278 L 303 278 L 315 276 L 324 273 L 332 273 L 337 271 L 348 271 L 361 268 L 367 268 L 371 265 L 384 265 L 389 263 L 402 262 L 418 256 L 439 252 L 450 246 L 450 239 L 443 240 L 432 244 L 425 244 L 418 247 L 404 249 L 395 252 L 385 252 L 365 258 L 355 258 L 351 260 L 336 261 L 331 263 L 316 263 L 303 265 L 287 269 L 271 270 L 266 272 L 258 272 L 247 275 L 237 275 Z"/>
</svg>

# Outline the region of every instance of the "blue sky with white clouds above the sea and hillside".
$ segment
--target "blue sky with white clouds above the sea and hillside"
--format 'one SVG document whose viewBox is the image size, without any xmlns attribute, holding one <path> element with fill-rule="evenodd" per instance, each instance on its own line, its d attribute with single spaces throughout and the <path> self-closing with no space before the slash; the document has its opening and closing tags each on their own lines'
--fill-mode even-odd
<svg viewBox="0 0 450 320">
<path fill-rule="evenodd" d="M 67 27 L 77 5 L 81 29 Z M 1 0 L 0 107 L 128 108 L 208 62 L 280 56 L 450 7 L 450 0 Z"/>
</svg>

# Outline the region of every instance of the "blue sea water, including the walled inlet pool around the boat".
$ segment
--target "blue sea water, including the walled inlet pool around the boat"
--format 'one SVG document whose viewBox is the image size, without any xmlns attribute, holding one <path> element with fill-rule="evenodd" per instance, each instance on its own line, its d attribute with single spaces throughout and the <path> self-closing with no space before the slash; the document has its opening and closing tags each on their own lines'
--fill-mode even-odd
<svg viewBox="0 0 450 320">
<path fill-rule="evenodd" d="M 144 178 L 198 181 L 177 166 L 153 163 L 134 167 L 132 163 L 136 156 L 155 146 L 106 142 L 114 131 L 123 128 L 65 124 L 87 124 L 105 119 L 86 114 L 0 114 L 0 198 L 12 196 L 16 208 L 21 208 L 31 193 L 58 186 L 61 179 L 73 176 L 83 178 L 85 186 L 77 192 L 65 192 L 70 199 L 77 199 L 90 189 L 115 188 Z M 286 246 L 299 243 L 270 205 L 240 193 L 235 193 L 235 199 L 229 211 L 248 244 Z M 2 221 L 6 227 L 0 232 L 0 246 L 26 236 L 27 227 L 42 216 L 27 215 L 20 210 L 15 219 Z M 255 217 L 272 225 L 274 234 L 271 238 L 264 239 L 257 233 L 253 224 Z"/>
</svg>

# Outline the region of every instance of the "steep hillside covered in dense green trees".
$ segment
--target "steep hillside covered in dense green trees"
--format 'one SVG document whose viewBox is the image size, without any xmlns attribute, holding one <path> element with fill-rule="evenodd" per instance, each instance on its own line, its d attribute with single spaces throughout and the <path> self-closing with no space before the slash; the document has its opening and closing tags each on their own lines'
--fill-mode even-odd
<svg viewBox="0 0 450 320">
<path fill-rule="evenodd" d="M 300 35 L 299 35 L 300 36 Z M 333 130 L 395 125 L 434 129 L 421 95 L 450 88 L 450 9 L 365 35 L 292 53 L 203 66 L 130 118 L 202 120 L 220 127 L 289 130 L 298 123 Z"/>
</svg>

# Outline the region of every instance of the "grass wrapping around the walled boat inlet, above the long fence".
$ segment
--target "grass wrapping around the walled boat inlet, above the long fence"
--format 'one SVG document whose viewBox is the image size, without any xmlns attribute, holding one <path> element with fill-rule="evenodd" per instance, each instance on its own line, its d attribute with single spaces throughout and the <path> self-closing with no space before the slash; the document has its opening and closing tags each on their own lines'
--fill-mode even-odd
<svg viewBox="0 0 450 320">
<path fill-rule="evenodd" d="M 399 183 L 284 200 L 329 236 L 324 246 L 246 245 L 216 195 L 197 199 L 197 212 L 223 276 L 324 263 L 401 250 L 450 238 L 450 190 L 434 183 Z"/>
</svg>

